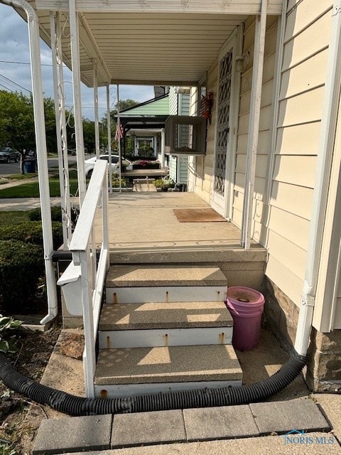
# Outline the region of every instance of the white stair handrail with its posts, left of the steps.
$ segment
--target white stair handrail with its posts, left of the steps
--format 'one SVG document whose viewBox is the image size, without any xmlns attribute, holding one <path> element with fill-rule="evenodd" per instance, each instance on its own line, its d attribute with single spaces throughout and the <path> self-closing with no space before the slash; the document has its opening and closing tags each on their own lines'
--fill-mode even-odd
<svg viewBox="0 0 341 455">
<path fill-rule="evenodd" d="M 83 368 L 87 397 L 94 397 L 95 342 L 104 280 L 109 268 L 107 168 L 107 161 L 96 161 L 70 243 L 72 262 L 80 266 L 82 314 L 85 331 Z M 98 263 L 94 237 L 94 218 L 97 208 L 102 208 L 102 245 Z"/>
</svg>

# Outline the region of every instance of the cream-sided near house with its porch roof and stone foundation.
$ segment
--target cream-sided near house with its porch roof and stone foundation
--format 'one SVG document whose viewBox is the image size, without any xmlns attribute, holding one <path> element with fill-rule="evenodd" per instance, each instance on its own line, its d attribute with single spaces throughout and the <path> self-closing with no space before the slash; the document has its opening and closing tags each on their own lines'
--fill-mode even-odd
<svg viewBox="0 0 341 455">
<path fill-rule="evenodd" d="M 191 86 L 191 115 L 212 92 L 189 189 L 246 249 L 266 247 L 266 321 L 301 354 L 312 321 L 308 385 L 341 390 L 340 0 L 29 3 L 45 41 L 50 11 L 61 21 L 63 59 L 88 86 L 97 62 L 98 85 Z M 80 63 L 66 39 L 77 21 Z"/>
</svg>

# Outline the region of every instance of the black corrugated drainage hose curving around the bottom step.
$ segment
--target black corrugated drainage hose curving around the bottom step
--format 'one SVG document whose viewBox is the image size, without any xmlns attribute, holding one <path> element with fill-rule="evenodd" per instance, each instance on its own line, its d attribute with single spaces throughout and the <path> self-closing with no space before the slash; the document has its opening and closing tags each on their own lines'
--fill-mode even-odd
<svg viewBox="0 0 341 455">
<path fill-rule="evenodd" d="M 251 385 L 160 392 L 126 398 L 83 398 L 55 390 L 18 373 L 3 353 L 0 353 L 0 378 L 11 390 L 65 414 L 74 416 L 119 414 L 190 407 L 247 405 L 251 402 L 259 402 L 289 385 L 301 373 L 306 361 L 307 357 L 294 353 L 288 362 L 270 378 Z"/>
</svg>

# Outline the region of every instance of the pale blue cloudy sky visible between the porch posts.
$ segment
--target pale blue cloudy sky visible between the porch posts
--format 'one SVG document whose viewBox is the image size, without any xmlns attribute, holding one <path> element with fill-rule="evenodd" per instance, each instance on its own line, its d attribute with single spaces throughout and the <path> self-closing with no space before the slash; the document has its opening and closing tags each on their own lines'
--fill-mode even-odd
<svg viewBox="0 0 341 455">
<path fill-rule="evenodd" d="M 28 50 L 27 23 L 11 6 L 0 4 L 0 90 L 11 90 L 30 95 L 31 65 Z M 43 75 L 44 97 L 53 98 L 53 75 L 51 50 L 40 40 L 40 55 Z M 72 75 L 65 68 L 65 104 L 72 107 Z M 107 94 L 105 87 L 99 87 L 99 120 L 107 114 Z M 120 100 L 143 102 L 153 98 L 153 87 L 137 85 L 120 85 Z M 117 102 L 117 87 L 110 86 L 110 108 Z M 94 119 L 94 91 L 82 84 L 82 116 Z"/>
</svg>

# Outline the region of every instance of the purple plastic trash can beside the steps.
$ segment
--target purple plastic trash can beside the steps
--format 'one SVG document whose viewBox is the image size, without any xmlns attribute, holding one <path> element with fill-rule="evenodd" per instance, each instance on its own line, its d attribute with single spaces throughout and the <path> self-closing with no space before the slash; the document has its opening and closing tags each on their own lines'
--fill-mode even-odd
<svg viewBox="0 0 341 455">
<path fill-rule="evenodd" d="M 226 305 L 233 319 L 232 346 L 251 350 L 259 343 L 264 296 L 249 287 L 227 288 Z"/>
</svg>

